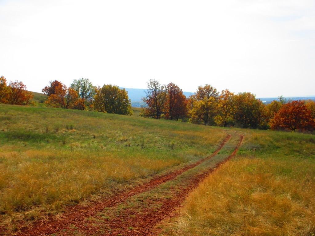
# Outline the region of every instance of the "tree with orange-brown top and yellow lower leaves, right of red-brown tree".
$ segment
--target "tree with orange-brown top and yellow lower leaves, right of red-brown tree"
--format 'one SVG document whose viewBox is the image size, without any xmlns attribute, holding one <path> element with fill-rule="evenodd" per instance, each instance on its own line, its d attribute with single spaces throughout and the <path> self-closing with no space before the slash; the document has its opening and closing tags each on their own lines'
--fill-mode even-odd
<svg viewBox="0 0 315 236">
<path fill-rule="evenodd" d="M 204 125 L 211 123 L 216 115 L 218 95 L 216 88 L 209 84 L 198 87 L 197 92 L 190 96 L 188 101 L 190 121 Z"/>
</svg>

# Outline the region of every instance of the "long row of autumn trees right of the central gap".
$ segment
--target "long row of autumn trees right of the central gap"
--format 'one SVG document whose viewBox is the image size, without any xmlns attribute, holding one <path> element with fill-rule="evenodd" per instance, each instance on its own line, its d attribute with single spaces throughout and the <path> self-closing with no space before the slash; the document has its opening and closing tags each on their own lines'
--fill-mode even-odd
<svg viewBox="0 0 315 236">
<path fill-rule="evenodd" d="M 148 82 L 146 107 L 141 115 L 151 118 L 183 120 L 196 124 L 272 130 L 315 129 L 315 103 L 309 101 L 279 101 L 263 104 L 253 93 L 221 93 L 209 84 L 198 87 L 186 98 L 174 83 L 162 85 L 157 80 Z"/>
</svg>

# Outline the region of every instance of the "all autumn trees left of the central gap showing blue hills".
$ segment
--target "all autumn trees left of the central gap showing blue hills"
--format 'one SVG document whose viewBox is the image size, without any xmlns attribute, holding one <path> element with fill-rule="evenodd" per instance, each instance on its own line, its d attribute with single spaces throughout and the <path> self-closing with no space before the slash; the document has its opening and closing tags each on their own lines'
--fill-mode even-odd
<svg viewBox="0 0 315 236">
<path fill-rule="evenodd" d="M 81 78 L 74 80 L 67 87 L 54 80 L 49 81 L 49 85 L 44 87 L 42 92 L 48 96 L 45 101 L 48 107 L 132 115 L 127 91 L 116 85 L 104 84 L 103 87 L 97 87 L 89 79 Z M 6 78 L 0 77 L 0 103 L 35 105 L 33 97 L 21 81 L 11 81 L 7 85 Z"/>
</svg>

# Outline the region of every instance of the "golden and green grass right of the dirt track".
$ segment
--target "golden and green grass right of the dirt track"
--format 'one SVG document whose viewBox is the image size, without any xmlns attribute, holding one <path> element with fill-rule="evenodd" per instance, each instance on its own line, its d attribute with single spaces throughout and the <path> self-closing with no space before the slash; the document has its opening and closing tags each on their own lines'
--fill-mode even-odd
<svg viewBox="0 0 315 236">
<path fill-rule="evenodd" d="M 163 235 L 315 234 L 315 137 L 246 132 L 238 157 L 190 194 Z"/>
</svg>

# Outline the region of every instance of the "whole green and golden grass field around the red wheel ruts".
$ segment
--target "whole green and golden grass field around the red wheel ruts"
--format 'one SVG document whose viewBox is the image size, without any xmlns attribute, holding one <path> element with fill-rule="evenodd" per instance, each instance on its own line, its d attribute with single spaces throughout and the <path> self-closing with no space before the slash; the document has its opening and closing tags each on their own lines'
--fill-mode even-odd
<svg viewBox="0 0 315 236">
<path fill-rule="evenodd" d="M 89 227 L 98 226 L 98 235 L 111 220 L 133 228 L 130 212 L 142 222 L 147 212 L 163 214 L 161 202 L 176 201 L 243 134 L 238 155 L 188 195 L 178 216 L 158 225 L 161 235 L 314 235 L 314 135 L 146 119 L 133 110 L 123 116 L 0 105 L 0 229 L 14 232 L 58 217 L 69 205 L 88 205 L 179 170 L 211 154 L 227 132 L 231 140 L 212 159 L 84 224 L 93 219 Z M 123 228 L 112 230 L 120 235 Z M 88 235 L 56 235 L 65 232 Z"/>
</svg>

